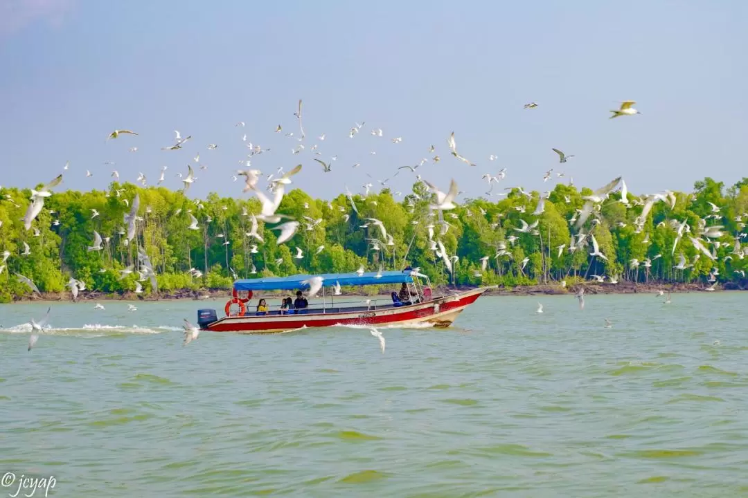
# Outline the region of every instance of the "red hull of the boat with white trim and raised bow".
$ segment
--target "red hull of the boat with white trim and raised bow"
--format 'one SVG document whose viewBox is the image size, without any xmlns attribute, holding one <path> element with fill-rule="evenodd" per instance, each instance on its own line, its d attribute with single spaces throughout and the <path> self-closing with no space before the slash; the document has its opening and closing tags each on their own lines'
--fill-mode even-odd
<svg viewBox="0 0 748 498">
<path fill-rule="evenodd" d="M 428 302 L 399 308 L 384 307 L 370 310 L 345 310 L 326 313 L 310 310 L 308 314 L 269 314 L 260 316 L 224 317 L 204 328 L 211 332 L 236 332 L 239 334 L 275 334 L 292 330 L 353 326 L 407 326 L 429 323 L 437 328 L 450 326 L 462 311 L 473 304 L 486 290 L 485 287 L 442 296 Z M 312 312 L 314 311 L 314 312 Z"/>
</svg>

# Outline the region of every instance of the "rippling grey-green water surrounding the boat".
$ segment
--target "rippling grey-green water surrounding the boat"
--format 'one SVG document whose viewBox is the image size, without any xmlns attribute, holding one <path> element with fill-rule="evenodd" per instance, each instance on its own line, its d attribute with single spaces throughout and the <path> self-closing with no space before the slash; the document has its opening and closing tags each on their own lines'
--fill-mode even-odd
<svg viewBox="0 0 748 498">
<path fill-rule="evenodd" d="M 183 348 L 206 302 L 55 303 L 28 353 L 47 305 L 5 305 L 0 473 L 50 497 L 748 496 L 746 297 L 485 297 L 384 329 L 384 355 L 343 328 Z"/>
</svg>

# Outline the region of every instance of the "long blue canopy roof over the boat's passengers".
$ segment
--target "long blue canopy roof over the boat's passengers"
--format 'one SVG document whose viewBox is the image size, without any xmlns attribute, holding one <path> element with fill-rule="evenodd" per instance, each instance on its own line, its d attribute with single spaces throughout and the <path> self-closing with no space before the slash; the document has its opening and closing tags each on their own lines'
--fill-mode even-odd
<svg viewBox="0 0 748 498">
<path fill-rule="evenodd" d="M 376 272 L 368 272 L 359 276 L 358 273 L 323 273 L 322 275 L 294 275 L 289 277 L 266 277 L 266 278 L 247 278 L 234 282 L 236 290 L 295 290 L 306 289 L 309 284 L 302 284 L 304 280 L 309 280 L 315 276 L 324 278 L 322 283 L 325 287 L 334 284 L 340 284 L 343 287 L 348 285 L 386 285 L 402 284 L 413 281 L 410 270 L 402 272 L 382 272 L 381 277 L 377 278 Z"/>
</svg>

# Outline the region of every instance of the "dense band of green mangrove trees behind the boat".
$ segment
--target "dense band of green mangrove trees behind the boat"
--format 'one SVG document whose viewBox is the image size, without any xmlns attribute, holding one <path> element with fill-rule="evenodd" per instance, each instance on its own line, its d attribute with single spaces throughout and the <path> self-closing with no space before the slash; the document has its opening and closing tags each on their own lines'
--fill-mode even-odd
<svg viewBox="0 0 748 498">
<path fill-rule="evenodd" d="M 675 193 L 675 207 L 669 201 L 655 202 L 646 220 L 637 219 L 646 199 L 630 193 L 629 201 L 634 204 L 627 206 L 618 193 L 611 194 L 583 227 L 607 255 L 604 261 L 589 255 L 589 236 L 577 250 L 569 250 L 577 234 L 570 220 L 576 219 L 586 202 L 583 196 L 592 191 L 566 184 L 557 184 L 548 193 L 539 216 L 533 214 L 540 199 L 536 192 L 514 189 L 498 202 L 466 199 L 444 212 L 446 232 L 429 210 L 434 194 L 420 182 L 402 201 L 386 189 L 353 196 L 358 214 L 346 196 L 325 201 L 289 190 L 278 212 L 293 217 L 300 226 L 281 246 L 276 243 L 275 225 L 260 222 L 264 243 L 246 236 L 251 227 L 249 214 L 260 209 L 254 197 L 227 199 L 212 193 L 196 202 L 162 187 L 143 189 L 115 182 L 105 191 L 53 193 L 45 199 L 32 229 L 25 231 L 19 220 L 28 207 L 30 191 L 0 188 L 0 252 L 10 253 L 0 271 L 0 302 L 30 293 L 17 281 L 16 273 L 31 278 L 42 292 L 64 290 L 70 278 L 84 281 L 89 290 L 132 292 L 141 270 L 138 248 L 149 255 L 163 292 L 227 289 L 235 276 L 346 273 L 362 265 L 370 271 L 419 267 L 433 284 L 512 287 L 561 280 L 571 283 L 595 274 L 631 281 L 705 281 L 715 269 L 719 281 L 743 281 L 741 272 L 748 271 L 748 258 L 736 249 L 735 240 L 742 242 L 748 220 L 744 216 L 748 178 L 732 187 L 705 178 L 694 189 L 693 193 Z M 135 193 L 141 198 L 141 220 L 135 240 L 126 244 L 123 216 Z M 94 212 L 99 215 L 93 217 Z M 190 214 L 198 220 L 197 230 L 188 228 Z M 367 219 L 381 220 L 387 237 Z M 523 221 L 536 225 L 530 231 L 519 231 Z M 674 250 L 683 221 L 689 231 Z M 689 240 L 706 225 L 724 226 L 720 239 L 705 243 L 716 260 L 699 253 Z M 88 250 L 94 231 L 105 238 L 101 251 Z M 457 257 L 453 274 L 436 255 L 435 240 L 444 243 L 447 255 Z M 22 255 L 25 244 L 29 255 Z M 295 258 L 298 250 L 301 258 Z M 686 270 L 674 268 L 681 253 L 688 263 Z M 130 266 L 135 272 L 120 278 L 120 270 Z M 194 277 L 190 270 L 202 276 Z M 144 295 L 152 292 L 147 278 L 141 284 Z"/>
</svg>

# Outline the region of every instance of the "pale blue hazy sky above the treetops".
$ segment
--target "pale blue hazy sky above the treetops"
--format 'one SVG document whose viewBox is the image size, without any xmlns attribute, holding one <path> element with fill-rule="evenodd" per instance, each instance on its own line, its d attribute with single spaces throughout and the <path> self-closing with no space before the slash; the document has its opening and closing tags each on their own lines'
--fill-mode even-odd
<svg viewBox="0 0 748 498">
<path fill-rule="evenodd" d="M 303 164 L 295 187 L 324 199 L 387 178 L 408 192 L 418 174 L 475 198 L 502 168 L 494 193 L 618 175 L 639 194 L 734 184 L 748 176 L 745 19 L 742 0 L 0 0 L 0 185 L 33 187 L 70 161 L 67 188 L 104 189 L 113 169 L 155 184 L 168 166 L 177 189 L 192 164 L 190 196 L 242 198 L 231 176 L 250 142 L 271 149 L 251 168 Z M 608 119 L 622 100 L 641 114 Z M 138 136 L 107 142 L 114 129 Z M 174 130 L 192 139 L 161 150 Z M 476 166 L 450 155 L 452 131 Z M 574 158 L 559 164 L 554 147 Z M 566 177 L 544 183 L 551 168 Z"/>
</svg>

